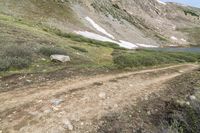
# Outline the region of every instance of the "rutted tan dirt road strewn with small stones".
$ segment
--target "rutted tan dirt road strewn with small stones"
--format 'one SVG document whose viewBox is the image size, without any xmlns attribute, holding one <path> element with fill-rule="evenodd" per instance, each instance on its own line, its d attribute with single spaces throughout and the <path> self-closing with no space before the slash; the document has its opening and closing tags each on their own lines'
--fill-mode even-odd
<svg viewBox="0 0 200 133">
<path fill-rule="evenodd" d="M 0 132 L 97 132 L 100 120 L 159 92 L 164 83 L 199 68 L 195 64 L 62 80 L 0 93 Z"/>
</svg>

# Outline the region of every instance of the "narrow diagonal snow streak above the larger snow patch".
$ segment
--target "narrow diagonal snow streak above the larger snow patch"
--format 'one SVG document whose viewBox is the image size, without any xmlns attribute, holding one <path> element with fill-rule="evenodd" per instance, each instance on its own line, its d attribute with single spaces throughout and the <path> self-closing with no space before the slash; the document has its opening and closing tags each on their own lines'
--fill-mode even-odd
<svg viewBox="0 0 200 133">
<path fill-rule="evenodd" d="M 115 39 L 115 37 L 111 34 L 109 34 L 105 29 L 103 29 L 101 26 L 99 26 L 97 23 L 95 23 L 90 17 L 85 17 L 85 19 L 99 32 L 105 34 L 106 36 Z"/>
</svg>

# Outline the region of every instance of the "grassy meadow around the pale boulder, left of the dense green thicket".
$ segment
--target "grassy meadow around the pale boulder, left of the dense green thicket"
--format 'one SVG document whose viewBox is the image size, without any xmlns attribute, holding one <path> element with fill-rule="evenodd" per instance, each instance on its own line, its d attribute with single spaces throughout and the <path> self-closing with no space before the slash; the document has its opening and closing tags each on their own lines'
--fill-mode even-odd
<svg viewBox="0 0 200 133">
<path fill-rule="evenodd" d="M 1 75 L 13 73 L 49 72 L 65 67 L 101 66 L 112 64 L 113 44 L 80 41 L 72 35 L 63 37 L 57 30 L 43 25 L 32 25 L 6 15 L 0 15 Z M 101 45 L 97 45 L 101 44 Z M 53 63 L 51 54 L 67 54 L 69 64 Z M 101 55 L 101 56 L 99 56 Z"/>
</svg>

